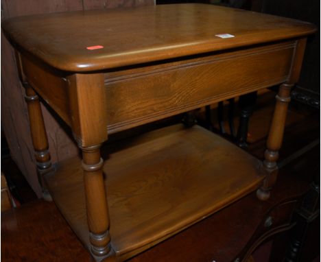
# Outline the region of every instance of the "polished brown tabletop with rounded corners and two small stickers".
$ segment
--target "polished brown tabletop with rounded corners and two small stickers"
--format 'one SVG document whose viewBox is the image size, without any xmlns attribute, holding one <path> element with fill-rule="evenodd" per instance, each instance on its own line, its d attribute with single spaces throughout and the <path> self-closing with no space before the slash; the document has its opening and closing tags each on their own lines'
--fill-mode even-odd
<svg viewBox="0 0 321 262">
<path fill-rule="evenodd" d="M 96 71 L 306 36 L 309 23 L 206 4 L 40 14 L 2 24 L 16 45 L 64 71 Z"/>
</svg>

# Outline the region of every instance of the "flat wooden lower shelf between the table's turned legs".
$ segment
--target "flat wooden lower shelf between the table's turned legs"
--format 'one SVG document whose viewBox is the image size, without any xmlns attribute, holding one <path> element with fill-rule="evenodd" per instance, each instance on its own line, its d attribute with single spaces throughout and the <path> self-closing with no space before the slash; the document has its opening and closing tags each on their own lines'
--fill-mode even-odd
<svg viewBox="0 0 321 262">
<path fill-rule="evenodd" d="M 204 219 L 259 187 L 261 161 L 200 126 L 156 130 L 104 163 L 111 245 L 119 260 Z M 62 215 L 89 246 L 80 158 L 45 177 Z M 258 200 L 259 201 L 259 200 Z"/>
</svg>

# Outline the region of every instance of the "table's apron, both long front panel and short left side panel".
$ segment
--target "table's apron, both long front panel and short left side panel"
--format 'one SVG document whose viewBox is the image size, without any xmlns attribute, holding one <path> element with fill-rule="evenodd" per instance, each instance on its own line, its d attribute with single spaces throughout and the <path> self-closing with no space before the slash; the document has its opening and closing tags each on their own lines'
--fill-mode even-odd
<svg viewBox="0 0 321 262">
<path fill-rule="evenodd" d="M 296 40 L 104 73 L 108 133 L 257 91 L 289 78 Z M 71 126 L 63 72 L 21 56 L 25 80 Z"/>
</svg>

